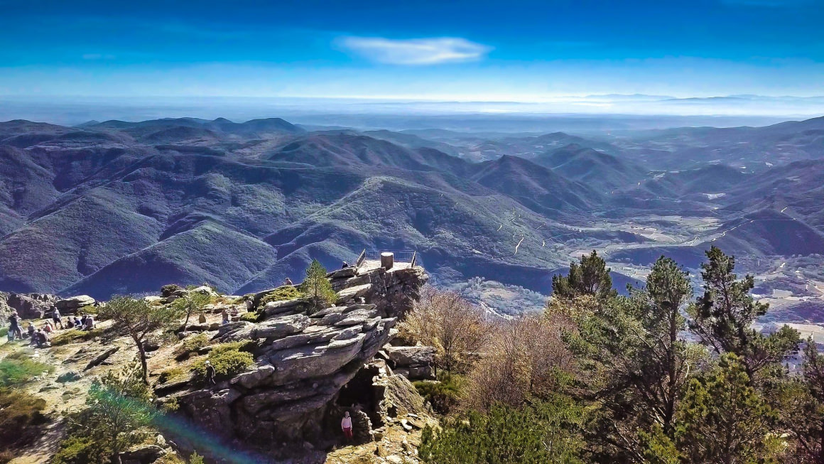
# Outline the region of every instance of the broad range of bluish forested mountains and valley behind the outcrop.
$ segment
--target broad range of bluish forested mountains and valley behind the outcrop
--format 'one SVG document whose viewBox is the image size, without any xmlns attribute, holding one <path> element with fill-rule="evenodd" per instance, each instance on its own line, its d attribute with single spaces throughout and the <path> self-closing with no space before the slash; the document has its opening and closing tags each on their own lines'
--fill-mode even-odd
<svg viewBox="0 0 824 464">
<path fill-rule="evenodd" d="M 418 251 L 439 284 L 550 293 L 547 270 L 593 249 L 630 267 L 714 241 L 765 261 L 822 254 L 822 131 L 821 118 L 597 138 L 8 121 L 0 290 L 250 293 L 379 248 Z"/>
</svg>

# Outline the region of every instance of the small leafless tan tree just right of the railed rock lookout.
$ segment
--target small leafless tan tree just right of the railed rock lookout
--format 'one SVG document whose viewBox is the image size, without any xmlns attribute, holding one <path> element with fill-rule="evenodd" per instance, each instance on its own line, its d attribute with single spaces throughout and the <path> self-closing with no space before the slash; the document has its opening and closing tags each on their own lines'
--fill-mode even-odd
<svg viewBox="0 0 824 464">
<path fill-rule="evenodd" d="M 492 328 L 483 308 L 455 292 L 424 287 L 406 321 L 405 338 L 437 349 L 436 363 L 449 372 L 465 369 L 489 339 Z"/>
</svg>

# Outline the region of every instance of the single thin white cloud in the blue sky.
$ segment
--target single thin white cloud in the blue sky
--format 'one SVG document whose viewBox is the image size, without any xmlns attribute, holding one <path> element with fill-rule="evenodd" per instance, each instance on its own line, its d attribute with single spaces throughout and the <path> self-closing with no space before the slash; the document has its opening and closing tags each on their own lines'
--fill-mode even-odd
<svg viewBox="0 0 824 464">
<path fill-rule="evenodd" d="M 460 37 L 431 39 L 385 39 L 382 37 L 341 37 L 339 45 L 377 63 L 428 65 L 461 63 L 483 58 L 492 47 Z"/>
</svg>

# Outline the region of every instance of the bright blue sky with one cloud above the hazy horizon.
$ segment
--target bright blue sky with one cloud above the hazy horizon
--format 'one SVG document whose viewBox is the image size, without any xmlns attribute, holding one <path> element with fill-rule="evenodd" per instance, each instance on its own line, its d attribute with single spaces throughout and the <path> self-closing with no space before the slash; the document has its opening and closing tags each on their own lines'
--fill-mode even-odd
<svg viewBox="0 0 824 464">
<path fill-rule="evenodd" d="M 0 95 L 824 95 L 824 1 L 0 0 Z"/>
</svg>

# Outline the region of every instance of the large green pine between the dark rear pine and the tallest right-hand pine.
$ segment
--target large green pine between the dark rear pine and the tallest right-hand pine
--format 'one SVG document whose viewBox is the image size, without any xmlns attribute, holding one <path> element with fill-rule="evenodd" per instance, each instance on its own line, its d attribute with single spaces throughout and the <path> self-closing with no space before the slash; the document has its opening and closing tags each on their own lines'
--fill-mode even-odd
<svg viewBox="0 0 824 464">
<path fill-rule="evenodd" d="M 631 288 L 630 297 L 553 303 L 583 302 L 569 312 L 578 330 L 567 340 L 589 373 L 585 396 L 601 405 L 590 435 L 600 450 L 596 461 L 644 462 L 653 438 L 672 441 L 682 391 L 701 353 L 679 339 L 686 329 L 681 307 L 691 294 L 688 274 L 661 257 L 646 288 Z"/>
</svg>

